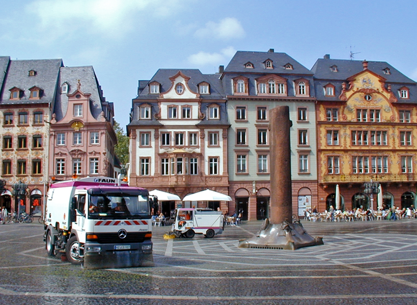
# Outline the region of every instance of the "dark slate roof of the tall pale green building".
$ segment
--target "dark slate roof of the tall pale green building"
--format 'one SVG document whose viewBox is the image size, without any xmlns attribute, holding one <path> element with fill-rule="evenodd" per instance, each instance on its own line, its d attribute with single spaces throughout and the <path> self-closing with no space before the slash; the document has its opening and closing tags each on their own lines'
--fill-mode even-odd
<svg viewBox="0 0 417 305">
<path fill-rule="evenodd" d="M 272 60 L 273 69 L 265 68 L 265 60 Z M 254 68 L 245 68 L 246 63 L 252 63 Z M 285 69 L 291 64 L 293 69 Z M 222 75 L 223 87 L 227 96 L 233 96 L 233 78 L 244 76 L 248 78 L 249 96 L 256 96 L 256 79 L 258 77 L 274 74 L 287 79 L 287 94 L 295 97 L 294 80 L 305 78 L 310 84 L 310 97 L 314 97 L 313 72 L 302 66 L 286 53 L 237 51 L 230 60 Z M 244 96 L 239 96 L 244 98 Z"/>
</svg>

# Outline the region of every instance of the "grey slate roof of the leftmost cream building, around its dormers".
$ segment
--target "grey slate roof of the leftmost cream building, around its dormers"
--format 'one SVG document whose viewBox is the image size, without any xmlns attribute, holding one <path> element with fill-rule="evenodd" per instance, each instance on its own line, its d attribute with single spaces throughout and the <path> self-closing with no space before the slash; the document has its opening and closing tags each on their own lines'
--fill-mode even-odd
<svg viewBox="0 0 417 305">
<path fill-rule="evenodd" d="M 1 65 L 1 64 L 0 64 Z M 52 104 L 57 89 L 59 69 L 63 66 L 62 59 L 11 60 L 3 83 L 1 104 Z M 36 71 L 29 76 L 29 71 Z M 42 94 L 39 100 L 29 100 L 29 88 L 37 86 Z M 18 87 L 23 90 L 20 100 L 10 100 L 10 89 Z"/>
</svg>

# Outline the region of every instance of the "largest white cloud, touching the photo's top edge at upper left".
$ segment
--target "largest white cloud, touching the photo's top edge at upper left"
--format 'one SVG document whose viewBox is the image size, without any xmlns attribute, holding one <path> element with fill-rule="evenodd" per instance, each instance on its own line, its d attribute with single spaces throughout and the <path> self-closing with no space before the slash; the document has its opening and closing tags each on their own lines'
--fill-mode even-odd
<svg viewBox="0 0 417 305">
<path fill-rule="evenodd" d="M 25 11 L 54 40 L 79 32 L 117 38 L 145 16 L 166 17 L 181 7 L 181 0 L 35 0 Z"/>
</svg>

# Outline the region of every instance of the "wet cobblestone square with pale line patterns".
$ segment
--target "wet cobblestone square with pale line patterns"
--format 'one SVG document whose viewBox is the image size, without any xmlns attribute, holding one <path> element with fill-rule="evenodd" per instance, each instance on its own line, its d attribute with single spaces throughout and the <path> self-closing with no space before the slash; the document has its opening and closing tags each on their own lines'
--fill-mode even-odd
<svg viewBox="0 0 417 305">
<path fill-rule="evenodd" d="M 324 245 L 239 249 L 261 222 L 163 239 L 155 267 L 85 270 L 47 257 L 40 224 L 0 225 L 0 303 L 416 304 L 417 219 L 305 223 Z"/>
</svg>

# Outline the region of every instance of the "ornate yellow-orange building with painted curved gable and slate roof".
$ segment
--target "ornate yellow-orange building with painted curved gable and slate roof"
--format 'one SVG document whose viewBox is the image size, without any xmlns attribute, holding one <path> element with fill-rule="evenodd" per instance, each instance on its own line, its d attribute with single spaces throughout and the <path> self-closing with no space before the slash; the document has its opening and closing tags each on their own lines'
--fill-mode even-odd
<svg viewBox="0 0 417 305">
<path fill-rule="evenodd" d="M 325 55 L 312 71 L 320 210 L 339 194 L 341 209 L 415 206 L 417 84 L 386 62 Z"/>
</svg>

